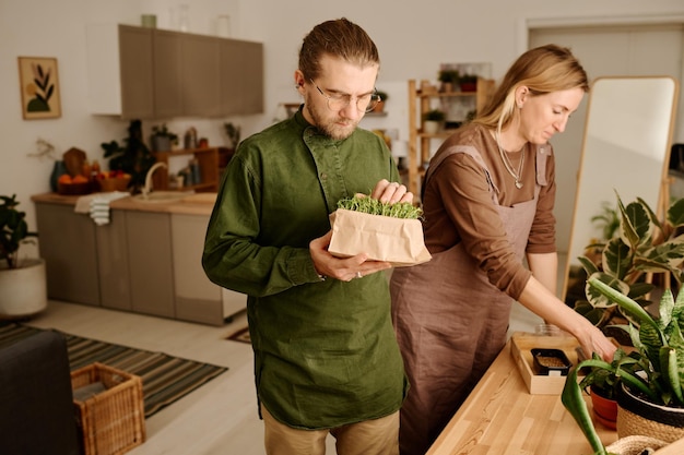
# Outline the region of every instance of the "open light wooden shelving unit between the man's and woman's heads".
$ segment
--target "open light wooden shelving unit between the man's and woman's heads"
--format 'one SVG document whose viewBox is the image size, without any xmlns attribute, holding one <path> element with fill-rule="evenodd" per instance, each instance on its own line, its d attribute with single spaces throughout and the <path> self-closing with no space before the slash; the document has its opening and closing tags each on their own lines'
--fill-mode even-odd
<svg viewBox="0 0 684 455">
<path fill-rule="evenodd" d="M 423 115 L 436 107 L 444 109 L 445 104 L 458 98 L 474 101 L 475 110 L 480 110 L 494 93 L 494 80 L 477 79 L 477 88 L 474 92 L 438 92 L 436 87 L 433 88 L 422 89 L 415 80 L 409 80 L 409 163 L 405 173 L 409 189 L 416 197 L 421 194 L 421 179 L 429 163 L 431 142 L 444 141 L 455 131 L 446 129 L 436 134 L 423 132 Z"/>
</svg>

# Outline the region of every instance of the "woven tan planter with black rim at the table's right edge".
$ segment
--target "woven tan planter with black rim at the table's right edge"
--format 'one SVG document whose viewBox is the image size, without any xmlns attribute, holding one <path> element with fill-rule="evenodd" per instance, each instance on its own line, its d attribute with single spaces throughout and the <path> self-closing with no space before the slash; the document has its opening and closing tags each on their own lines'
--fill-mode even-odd
<svg viewBox="0 0 684 455">
<path fill-rule="evenodd" d="M 684 408 L 649 403 L 623 384 L 617 390 L 617 436 L 637 434 L 664 442 L 684 438 Z"/>
</svg>

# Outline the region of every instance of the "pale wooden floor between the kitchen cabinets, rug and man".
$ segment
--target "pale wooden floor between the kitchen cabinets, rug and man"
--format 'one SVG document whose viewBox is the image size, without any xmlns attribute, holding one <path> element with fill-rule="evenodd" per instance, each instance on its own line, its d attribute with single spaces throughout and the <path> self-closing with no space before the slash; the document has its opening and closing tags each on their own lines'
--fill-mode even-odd
<svg viewBox="0 0 684 455">
<path fill-rule="evenodd" d="M 531 330 L 536 316 L 516 304 L 511 332 Z M 73 335 L 140 349 L 163 351 L 228 371 L 146 419 L 148 440 L 130 455 L 264 455 L 263 426 L 257 415 L 252 351 L 225 338 L 246 326 L 245 313 L 221 327 L 50 301 L 25 322 Z M 334 441 L 328 440 L 333 455 Z"/>
</svg>

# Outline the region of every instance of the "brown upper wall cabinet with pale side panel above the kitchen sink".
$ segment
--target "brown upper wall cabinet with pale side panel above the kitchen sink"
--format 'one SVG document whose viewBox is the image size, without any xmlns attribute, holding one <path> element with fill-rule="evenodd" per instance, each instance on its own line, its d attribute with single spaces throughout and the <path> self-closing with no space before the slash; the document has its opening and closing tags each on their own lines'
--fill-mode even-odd
<svg viewBox="0 0 684 455">
<path fill-rule="evenodd" d="M 129 25 L 87 29 L 93 113 L 125 119 L 263 112 L 263 45 Z"/>
</svg>

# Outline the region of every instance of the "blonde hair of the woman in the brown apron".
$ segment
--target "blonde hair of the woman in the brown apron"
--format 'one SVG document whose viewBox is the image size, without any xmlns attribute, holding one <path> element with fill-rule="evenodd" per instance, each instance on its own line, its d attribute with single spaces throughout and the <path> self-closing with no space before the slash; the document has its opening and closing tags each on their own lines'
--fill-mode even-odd
<svg viewBox="0 0 684 455">
<path fill-rule="evenodd" d="M 557 45 L 540 46 L 514 62 L 473 123 L 496 128 L 500 132 L 514 119 L 516 89 L 520 86 L 528 87 L 531 96 L 577 87 L 589 92 L 587 72 L 570 49 Z"/>
</svg>

